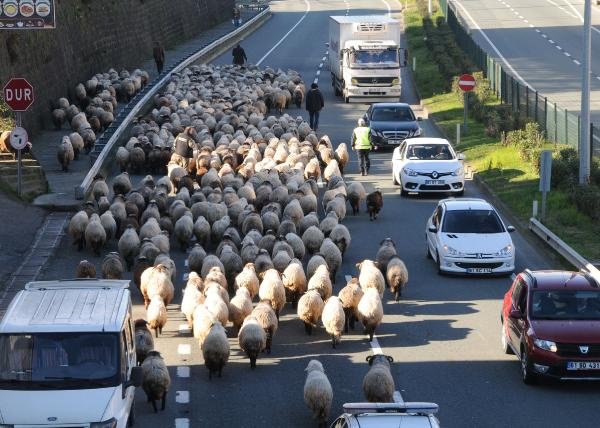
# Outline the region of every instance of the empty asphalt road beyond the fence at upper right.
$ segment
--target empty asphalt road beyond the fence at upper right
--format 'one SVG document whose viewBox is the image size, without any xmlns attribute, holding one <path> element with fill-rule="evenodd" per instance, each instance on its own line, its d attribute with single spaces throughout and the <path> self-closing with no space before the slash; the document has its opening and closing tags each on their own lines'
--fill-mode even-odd
<svg viewBox="0 0 600 428">
<path fill-rule="evenodd" d="M 496 59 L 502 55 L 511 74 L 563 109 L 580 111 L 583 1 L 450 1 L 479 45 Z M 600 8 L 595 6 L 592 23 L 590 108 L 592 122 L 600 123 L 600 57 L 595 55 L 600 49 Z"/>
</svg>

